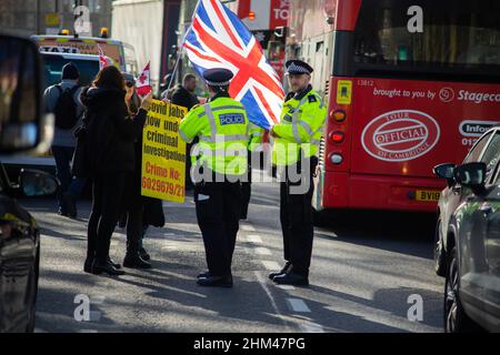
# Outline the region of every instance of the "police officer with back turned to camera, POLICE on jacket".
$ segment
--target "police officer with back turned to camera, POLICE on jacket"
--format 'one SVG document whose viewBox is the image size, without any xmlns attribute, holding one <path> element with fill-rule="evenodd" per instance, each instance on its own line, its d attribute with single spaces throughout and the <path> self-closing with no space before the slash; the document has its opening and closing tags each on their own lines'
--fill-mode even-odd
<svg viewBox="0 0 500 355">
<path fill-rule="evenodd" d="M 204 71 L 210 101 L 192 108 L 179 126 L 183 141 L 200 140 L 191 150 L 191 179 L 208 264 L 208 272 L 198 275 L 201 286 L 232 286 L 231 261 L 249 142 L 247 112 L 228 93 L 232 77 L 226 69 Z"/>
</svg>

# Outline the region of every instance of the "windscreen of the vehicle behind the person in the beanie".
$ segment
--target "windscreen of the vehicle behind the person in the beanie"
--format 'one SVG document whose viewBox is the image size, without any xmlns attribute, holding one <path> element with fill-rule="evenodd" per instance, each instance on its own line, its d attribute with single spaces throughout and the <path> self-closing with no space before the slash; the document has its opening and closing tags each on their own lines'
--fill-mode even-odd
<svg viewBox="0 0 500 355">
<path fill-rule="evenodd" d="M 59 55 L 42 55 L 44 69 L 44 88 L 58 84 L 61 82 L 62 67 L 72 62 L 80 72 L 80 85 L 90 85 L 92 80 L 99 72 L 99 61 L 96 60 L 74 60 L 66 59 Z"/>
</svg>

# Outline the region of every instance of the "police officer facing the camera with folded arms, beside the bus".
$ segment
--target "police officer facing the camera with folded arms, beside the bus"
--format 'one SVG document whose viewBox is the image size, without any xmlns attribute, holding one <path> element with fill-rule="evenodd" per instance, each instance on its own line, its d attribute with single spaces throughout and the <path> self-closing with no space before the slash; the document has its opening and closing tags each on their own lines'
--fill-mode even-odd
<svg viewBox="0 0 500 355">
<path fill-rule="evenodd" d="M 280 180 L 280 221 L 286 264 L 269 277 L 278 284 L 309 285 L 312 253 L 313 173 L 327 116 L 321 97 L 310 84 L 313 69 L 300 60 L 286 63 L 292 90 L 271 130 L 272 161 Z"/>
</svg>

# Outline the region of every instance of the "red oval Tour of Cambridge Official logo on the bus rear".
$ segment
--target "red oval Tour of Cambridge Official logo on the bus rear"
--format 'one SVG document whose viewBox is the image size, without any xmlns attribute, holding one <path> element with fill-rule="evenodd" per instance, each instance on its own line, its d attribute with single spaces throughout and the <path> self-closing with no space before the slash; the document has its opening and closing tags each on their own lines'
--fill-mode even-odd
<svg viewBox="0 0 500 355">
<path fill-rule="evenodd" d="M 438 143 L 438 122 L 427 113 L 398 110 L 383 113 L 364 128 L 361 142 L 368 154 L 403 162 L 427 154 Z"/>
</svg>

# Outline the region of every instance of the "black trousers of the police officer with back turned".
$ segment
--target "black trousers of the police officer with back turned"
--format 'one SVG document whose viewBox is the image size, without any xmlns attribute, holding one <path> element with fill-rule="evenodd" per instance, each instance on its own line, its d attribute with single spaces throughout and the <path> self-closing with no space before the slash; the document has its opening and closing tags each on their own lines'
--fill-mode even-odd
<svg viewBox="0 0 500 355">
<path fill-rule="evenodd" d="M 230 275 L 241 211 L 241 184 L 197 183 L 194 203 L 208 270 L 213 276 Z"/>
</svg>

